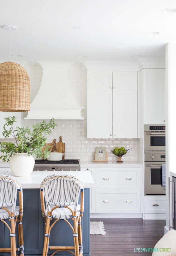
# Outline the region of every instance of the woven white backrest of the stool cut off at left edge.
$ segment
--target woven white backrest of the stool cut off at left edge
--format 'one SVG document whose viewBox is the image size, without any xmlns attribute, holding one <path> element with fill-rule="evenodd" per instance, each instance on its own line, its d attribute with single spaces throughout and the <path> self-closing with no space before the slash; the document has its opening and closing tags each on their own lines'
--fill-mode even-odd
<svg viewBox="0 0 176 256">
<path fill-rule="evenodd" d="M 16 178 L 6 174 L 0 174 L 0 207 L 12 206 L 11 211 L 15 212 L 18 191 L 22 192 L 22 187 Z"/>
</svg>

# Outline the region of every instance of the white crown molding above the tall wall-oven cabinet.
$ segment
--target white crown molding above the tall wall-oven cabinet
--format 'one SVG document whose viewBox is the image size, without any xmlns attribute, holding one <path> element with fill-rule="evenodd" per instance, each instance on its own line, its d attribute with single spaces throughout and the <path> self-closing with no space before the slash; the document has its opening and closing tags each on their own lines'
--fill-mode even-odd
<svg viewBox="0 0 176 256">
<path fill-rule="evenodd" d="M 164 58 L 138 58 L 136 63 L 139 66 L 139 70 L 142 68 L 165 68 Z"/>
</svg>

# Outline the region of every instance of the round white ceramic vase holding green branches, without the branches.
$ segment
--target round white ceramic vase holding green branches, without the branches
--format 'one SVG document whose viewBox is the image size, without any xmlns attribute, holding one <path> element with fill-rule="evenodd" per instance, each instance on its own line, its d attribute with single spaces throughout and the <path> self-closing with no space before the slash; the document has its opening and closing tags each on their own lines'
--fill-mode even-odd
<svg viewBox="0 0 176 256">
<path fill-rule="evenodd" d="M 14 176 L 29 176 L 34 168 L 35 160 L 33 156 L 27 153 L 15 153 L 10 158 L 10 169 Z"/>
</svg>

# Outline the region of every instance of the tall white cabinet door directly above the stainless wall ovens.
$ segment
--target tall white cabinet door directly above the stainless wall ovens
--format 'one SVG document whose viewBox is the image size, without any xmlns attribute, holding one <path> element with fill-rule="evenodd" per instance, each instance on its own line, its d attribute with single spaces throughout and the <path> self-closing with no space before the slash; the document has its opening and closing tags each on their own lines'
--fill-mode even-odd
<svg viewBox="0 0 176 256">
<path fill-rule="evenodd" d="M 144 124 L 165 124 L 165 69 L 144 69 Z"/>
</svg>

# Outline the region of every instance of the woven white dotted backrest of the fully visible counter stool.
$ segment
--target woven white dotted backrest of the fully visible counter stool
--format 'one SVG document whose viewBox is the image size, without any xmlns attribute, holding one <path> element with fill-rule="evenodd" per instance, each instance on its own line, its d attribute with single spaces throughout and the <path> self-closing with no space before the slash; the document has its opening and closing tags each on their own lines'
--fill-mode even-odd
<svg viewBox="0 0 176 256">
<path fill-rule="evenodd" d="M 42 180 L 40 190 L 43 190 L 46 209 L 50 211 L 50 205 L 68 206 L 75 205 L 78 210 L 78 201 L 81 189 L 84 188 L 81 180 L 70 174 L 52 174 Z"/>
</svg>

